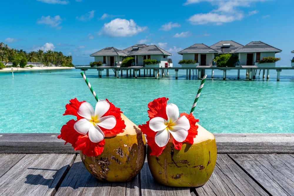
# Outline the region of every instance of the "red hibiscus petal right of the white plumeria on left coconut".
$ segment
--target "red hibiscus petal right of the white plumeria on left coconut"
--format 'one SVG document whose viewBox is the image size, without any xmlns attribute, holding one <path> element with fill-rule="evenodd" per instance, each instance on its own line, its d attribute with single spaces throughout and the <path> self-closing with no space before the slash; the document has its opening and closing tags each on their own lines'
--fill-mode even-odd
<svg viewBox="0 0 294 196">
<path fill-rule="evenodd" d="M 106 99 L 106 101 L 108 100 Z M 113 137 L 117 135 L 118 133 L 123 133 L 124 129 L 126 128 L 126 125 L 125 125 L 125 121 L 121 118 L 121 113 L 123 113 L 121 112 L 121 109 L 116 108 L 109 101 L 108 103 L 110 104 L 110 108 L 103 116 L 114 116 L 116 118 L 116 125 L 113 129 L 110 129 L 110 130 L 102 128 L 102 127 L 100 128 L 103 131 L 105 137 Z"/>
</svg>

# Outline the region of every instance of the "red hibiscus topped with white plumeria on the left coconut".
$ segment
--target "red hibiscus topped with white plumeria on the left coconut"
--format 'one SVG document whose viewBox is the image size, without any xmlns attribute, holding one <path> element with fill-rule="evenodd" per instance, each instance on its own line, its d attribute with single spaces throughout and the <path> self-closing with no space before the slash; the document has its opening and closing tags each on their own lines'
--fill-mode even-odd
<svg viewBox="0 0 294 196">
<path fill-rule="evenodd" d="M 88 102 L 80 102 L 76 98 L 69 102 L 64 115 L 74 115 L 77 120 L 69 120 L 63 125 L 58 138 L 87 156 L 100 155 L 105 144 L 104 137 L 115 136 L 126 128 L 121 119 L 122 112 L 107 99 L 99 100 L 95 111 Z"/>
</svg>

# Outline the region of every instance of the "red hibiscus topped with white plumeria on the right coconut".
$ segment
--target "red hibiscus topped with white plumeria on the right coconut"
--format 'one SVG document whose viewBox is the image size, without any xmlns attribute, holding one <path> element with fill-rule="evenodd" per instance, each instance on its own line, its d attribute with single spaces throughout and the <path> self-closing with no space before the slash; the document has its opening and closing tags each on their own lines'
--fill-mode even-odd
<svg viewBox="0 0 294 196">
<path fill-rule="evenodd" d="M 139 125 L 146 135 L 150 155 L 158 156 L 162 153 L 169 140 L 172 140 L 175 149 L 181 150 L 183 142 L 193 144 L 197 135 L 198 126 L 192 114 L 181 113 L 179 118 L 178 107 L 167 104 L 168 98 L 158 98 L 148 104 L 150 120 Z"/>
</svg>

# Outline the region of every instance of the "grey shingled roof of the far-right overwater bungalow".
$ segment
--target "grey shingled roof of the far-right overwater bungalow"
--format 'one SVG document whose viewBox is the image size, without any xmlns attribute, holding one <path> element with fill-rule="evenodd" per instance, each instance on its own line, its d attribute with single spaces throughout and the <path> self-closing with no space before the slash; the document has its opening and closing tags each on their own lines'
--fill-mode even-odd
<svg viewBox="0 0 294 196">
<path fill-rule="evenodd" d="M 251 41 L 242 48 L 236 51 L 237 53 L 248 53 L 248 52 L 281 52 L 280 49 L 270 46 L 261 41 Z"/>
</svg>

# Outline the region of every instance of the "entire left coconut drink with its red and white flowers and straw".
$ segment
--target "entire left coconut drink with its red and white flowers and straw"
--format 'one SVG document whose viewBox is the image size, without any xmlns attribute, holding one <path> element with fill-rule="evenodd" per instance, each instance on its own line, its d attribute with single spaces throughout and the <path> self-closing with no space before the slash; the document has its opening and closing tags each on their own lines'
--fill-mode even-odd
<svg viewBox="0 0 294 196">
<path fill-rule="evenodd" d="M 76 120 L 63 125 L 58 138 L 79 150 L 84 166 L 98 180 L 130 181 L 144 165 L 145 136 L 120 108 L 107 99 L 99 100 L 81 74 L 97 100 L 95 110 L 86 101 L 70 100 L 64 115 L 74 115 Z"/>
</svg>

